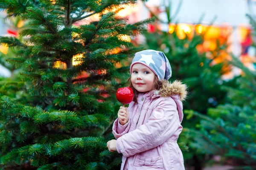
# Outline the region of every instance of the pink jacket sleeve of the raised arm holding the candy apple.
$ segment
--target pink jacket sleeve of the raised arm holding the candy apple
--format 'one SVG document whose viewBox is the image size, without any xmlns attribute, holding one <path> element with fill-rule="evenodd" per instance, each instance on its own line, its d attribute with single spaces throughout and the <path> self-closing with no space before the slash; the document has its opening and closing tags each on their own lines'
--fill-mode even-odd
<svg viewBox="0 0 256 170">
<path fill-rule="evenodd" d="M 131 127 L 130 119 L 125 125 L 121 125 L 118 121 L 118 119 L 115 120 L 112 127 L 112 133 L 115 136 L 116 139 L 123 136 L 125 133 L 128 133 L 129 129 Z"/>
</svg>

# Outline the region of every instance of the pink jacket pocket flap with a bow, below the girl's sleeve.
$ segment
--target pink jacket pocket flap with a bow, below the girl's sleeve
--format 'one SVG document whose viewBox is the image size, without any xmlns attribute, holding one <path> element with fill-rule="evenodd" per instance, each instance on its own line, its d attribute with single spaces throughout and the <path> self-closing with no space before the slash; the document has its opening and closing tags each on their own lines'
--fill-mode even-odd
<svg viewBox="0 0 256 170">
<path fill-rule="evenodd" d="M 134 161 L 134 166 L 148 166 L 163 169 L 163 158 L 162 156 L 158 156 L 154 159 L 146 159 L 140 155 L 137 155 Z"/>
</svg>

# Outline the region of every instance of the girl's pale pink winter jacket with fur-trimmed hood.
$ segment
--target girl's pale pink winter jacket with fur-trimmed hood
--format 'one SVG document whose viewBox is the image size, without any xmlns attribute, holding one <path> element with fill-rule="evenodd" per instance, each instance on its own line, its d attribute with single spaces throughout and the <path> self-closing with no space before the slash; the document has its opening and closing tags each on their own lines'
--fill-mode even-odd
<svg viewBox="0 0 256 170">
<path fill-rule="evenodd" d="M 113 123 L 116 149 L 122 153 L 121 170 L 185 170 L 177 144 L 182 131 L 182 100 L 186 85 L 165 82 L 159 91 L 138 94 L 128 107 L 130 119 Z"/>
</svg>

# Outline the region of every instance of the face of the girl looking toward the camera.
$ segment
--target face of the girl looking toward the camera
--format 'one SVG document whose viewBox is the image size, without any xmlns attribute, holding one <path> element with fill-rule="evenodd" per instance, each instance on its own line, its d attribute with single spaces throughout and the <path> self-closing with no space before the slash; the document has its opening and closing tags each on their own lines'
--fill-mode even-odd
<svg viewBox="0 0 256 170">
<path fill-rule="evenodd" d="M 147 66 L 136 63 L 131 70 L 131 84 L 139 92 L 151 91 L 154 87 L 155 74 Z"/>
</svg>

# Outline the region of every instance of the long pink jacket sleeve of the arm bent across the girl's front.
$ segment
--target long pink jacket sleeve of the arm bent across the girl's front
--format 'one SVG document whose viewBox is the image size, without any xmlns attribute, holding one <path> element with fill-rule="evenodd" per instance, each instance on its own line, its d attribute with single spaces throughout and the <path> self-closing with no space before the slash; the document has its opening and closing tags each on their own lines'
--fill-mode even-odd
<svg viewBox="0 0 256 170">
<path fill-rule="evenodd" d="M 166 142 L 180 127 L 177 105 L 171 100 L 161 101 L 146 124 L 118 138 L 117 151 L 128 157 Z"/>
</svg>

